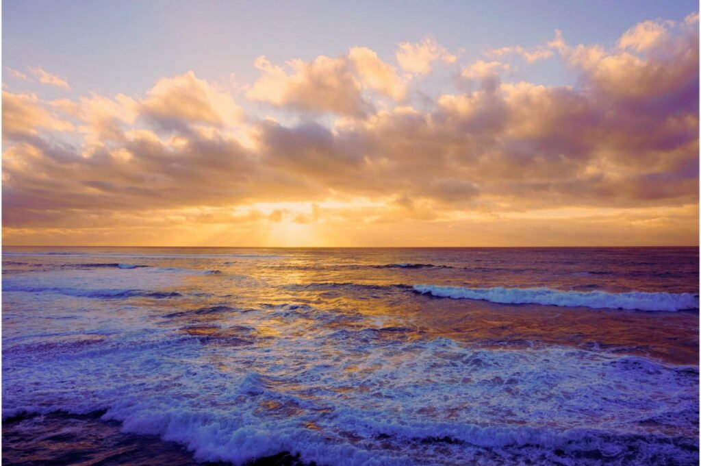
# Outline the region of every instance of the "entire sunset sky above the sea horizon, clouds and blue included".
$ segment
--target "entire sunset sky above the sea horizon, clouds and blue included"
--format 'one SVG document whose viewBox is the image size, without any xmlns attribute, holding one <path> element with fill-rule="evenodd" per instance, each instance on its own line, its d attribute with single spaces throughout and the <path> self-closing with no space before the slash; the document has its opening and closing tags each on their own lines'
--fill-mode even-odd
<svg viewBox="0 0 701 466">
<path fill-rule="evenodd" d="M 699 237 L 693 1 L 2 3 L 2 238 Z"/>
</svg>

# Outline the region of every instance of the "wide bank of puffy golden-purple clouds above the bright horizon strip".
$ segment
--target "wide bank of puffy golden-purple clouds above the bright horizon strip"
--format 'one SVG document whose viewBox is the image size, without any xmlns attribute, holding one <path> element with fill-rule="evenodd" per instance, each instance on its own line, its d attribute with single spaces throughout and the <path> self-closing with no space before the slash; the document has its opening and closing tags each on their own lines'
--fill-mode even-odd
<svg viewBox="0 0 701 466">
<path fill-rule="evenodd" d="M 4 225 L 197 218 L 345 231 L 352 219 L 426 222 L 430 236 L 455 218 L 467 231 L 466 219 L 485 215 L 618 209 L 643 225 L 646 209 L 660 218 L 681 208 L 668 224 L 686 237 L 696 231 L 697 15 L 635 25 L 610 48 L 569 45 L 559 33 L 544 47 L 576 72 L 576 85 L 505 82 L 507 61 L 478 60 L 461 69 L 474 88 L 445 88 L 428 105 L 415 105 L 409 77 L 369 48 L 284 66 L 259 58 L 247 98 L 303 116 L 294 124 L 243 115 L 230 93 L 193 72 L 159 80 L 143 98 L 44 102 L 5 91 Z M 452 60 L 432 41 L 400 52 L 411 73 Z M 342 118 L 329 124 L 328 114 Z M 236 135 L 244 126 L 246 144 Z M 316 208 L 226 211 L 283 201 Z"/>
</svg>

